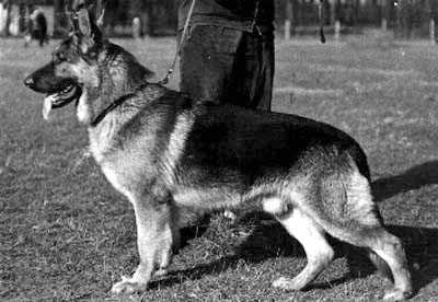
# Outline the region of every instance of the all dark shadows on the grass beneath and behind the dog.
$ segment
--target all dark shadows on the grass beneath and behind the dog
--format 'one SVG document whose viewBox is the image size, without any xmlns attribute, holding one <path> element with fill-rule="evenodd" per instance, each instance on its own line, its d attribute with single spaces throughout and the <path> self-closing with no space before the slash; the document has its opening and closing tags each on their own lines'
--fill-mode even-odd
<svg viewBox="0 0 438 302">
<path fill-rule="evenodd" d="M 414 166 L 403 174 L 380 178 L 372 183 L 374 198 L 383 201 L 399 193 L 420 188 L 425 185 L 438 184 L 438 161 Z M 228 256 L 195 268 L 171 272 L 160 280 L 160 288 L 181 282 L 181 276 L 189 279 L 200 279 L 205 275 L 217 275 L 228 268 L 234 268 L 240 260 L 246 263 L 262 263 L 268 258 L 284 256 L 304 257 L 302 247 L 278 223 L 264 223 L 256 226 L 253 233 L 237 251 L 235 255 Z M 394 235 L 402 239 L 405 245 L 408 263 L 413 266 L 413 282 L 416 290 L 426 287 L 438 278 L 438 229 L 413 228 L 407 225 L 387 225 Z M 196 229 L 193 233 L 199 235 L 204 230 Z M 186 235 L 189 235 L 189 232 Z M 336 257 L 346 257 L 349 274 L 331 280 L 330 283 L 314 283 L 309 289 L 324 289 L 344 283 L 350 279 L 364 278 L 374 272 L 372 264 L 365 256 L 361 248 L 330 239 L 336 251 Z M 151 288 L 158 286 L 153 282 Z"/>
</svg>

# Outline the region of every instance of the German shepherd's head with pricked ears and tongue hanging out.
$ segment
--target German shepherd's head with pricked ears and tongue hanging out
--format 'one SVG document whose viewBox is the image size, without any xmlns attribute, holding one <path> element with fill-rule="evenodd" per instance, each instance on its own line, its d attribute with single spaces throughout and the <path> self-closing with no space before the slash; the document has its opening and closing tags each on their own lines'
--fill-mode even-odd
<svg viewBox="0 0 438 302">
<path fill-rule="evenodd" d="M 104 43 L 102 32 L 85 8 L 71 13 L 71 24 L 72 31 L 56 47 L 51 61 L 24 80 L 30 89 L 46 94 L 45 117 L 51 108 L 78 103 L 84 85 L 96 81 L 89 71 L 97 66 Z"/>
</svg>

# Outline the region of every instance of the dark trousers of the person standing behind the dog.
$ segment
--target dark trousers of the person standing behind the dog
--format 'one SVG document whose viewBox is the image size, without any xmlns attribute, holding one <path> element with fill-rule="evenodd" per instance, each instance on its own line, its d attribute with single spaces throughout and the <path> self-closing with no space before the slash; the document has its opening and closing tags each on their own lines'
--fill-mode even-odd
<svg viewBox="0 0 438 302">
<path fill-rule="evenodd" d="M 180 89 L 197 101 L 270 111 L 274 34 L 212 25 L 189 28 L 181 49 Z"/>
</svg>

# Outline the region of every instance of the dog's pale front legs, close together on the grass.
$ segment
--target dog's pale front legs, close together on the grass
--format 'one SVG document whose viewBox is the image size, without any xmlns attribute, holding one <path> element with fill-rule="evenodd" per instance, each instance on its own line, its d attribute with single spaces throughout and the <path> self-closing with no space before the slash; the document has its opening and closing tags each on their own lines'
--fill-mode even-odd
<svg viewBox="0 0 438 302">
<path fill-rule="evenodd" d="M 157 196 L 142 196 L 131 200 L 136 213 L 137 245 L 140 264 L 130 278 L 112 288 L 113 293 L 132 293 L 147 288 L 157 266 L 165 271 L 172 259 L 174 228 L 170 200 Z"/>
</svg>

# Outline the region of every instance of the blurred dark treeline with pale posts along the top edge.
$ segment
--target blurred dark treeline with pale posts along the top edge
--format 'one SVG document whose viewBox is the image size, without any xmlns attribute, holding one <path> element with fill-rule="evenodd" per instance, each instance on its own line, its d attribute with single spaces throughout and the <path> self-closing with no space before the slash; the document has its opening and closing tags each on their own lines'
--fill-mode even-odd
<svg viewBox="0 0 438 302">
<path fill-rule="evenodd" d="M 0 0 L 0 35 L 20 36 L 35 9 L 47 18 L 53 37 L 68 27 L 66 8 L 74 0 Z M 320 24 L 319 0 L 276 0 L 277 33 L 286 38 L 313 34 Z M 175 34 L 178 1 L 108 0 L 105 31 L 112 36 Z M 364 28 L 392 30 L 400 38 L 435 40 L 438 2 L 433 0 L 325 0 L 323 23 L 332 33 L 360 33 Z M 137 19 L 137 20 L 136 20 Z M 135 21 L 136 20 L 136 21 Z M 136 24 L 132 28 L 132 24 Z"/>
</svg>

